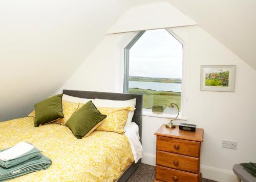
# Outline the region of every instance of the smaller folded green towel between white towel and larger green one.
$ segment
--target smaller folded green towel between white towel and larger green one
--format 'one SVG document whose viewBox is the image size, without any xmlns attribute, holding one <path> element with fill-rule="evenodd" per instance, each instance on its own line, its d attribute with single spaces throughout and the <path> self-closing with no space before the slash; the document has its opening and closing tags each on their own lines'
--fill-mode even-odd
<svg viewBox="0 0 256 182">
<path fill-rule="evenodd" d="M 7 150 L 7 149 L 5 149 L 5 150 Z M 0 152 L 1 151 L 4 151 L 4 150 L 0 150 Z M 12 167 L 12 166 L 16 166 L 17 164 L 23 163 L 25 161 L 28 161 L 29 159 L 32 159 L 32 158 L 39 159 L 40 154 L 41 154 L 40 151 L 37 148 L 34 147 L 33 149 L 31 149 L 30 151 L 28 151 L 27 153 L 25 153 L 23 155 L 20 155 L 16 159 L 13 159 L 13 160 L 10 160 L 10 161 L 0 160 L 0 167 L 9 168 L 9 167 Z"/>
</svg>

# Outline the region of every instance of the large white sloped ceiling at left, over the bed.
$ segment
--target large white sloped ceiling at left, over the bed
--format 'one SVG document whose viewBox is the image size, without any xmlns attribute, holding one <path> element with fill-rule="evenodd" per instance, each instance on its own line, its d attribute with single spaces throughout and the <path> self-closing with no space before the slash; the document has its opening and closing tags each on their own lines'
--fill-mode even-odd
<svg viewBox="0 0 256 182">
<path fill-rule="evenodd" d="M 25 116 L 55 94 L 110 25 L 146 2 L 0 1 L 0 121 Z"/>
</svg>

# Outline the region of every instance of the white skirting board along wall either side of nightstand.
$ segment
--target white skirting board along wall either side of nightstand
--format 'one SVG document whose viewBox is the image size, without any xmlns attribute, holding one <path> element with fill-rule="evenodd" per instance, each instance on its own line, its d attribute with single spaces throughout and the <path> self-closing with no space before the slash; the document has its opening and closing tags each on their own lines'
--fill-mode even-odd
<svg viewBox="0 0 256 182">
<path fill-rule="evenodd" d="M 143 153 L 142 163 L 156 166 L 156 155 L 151 153 Z M 219 182 L 233 182 L 236 181 L 236 175 L 232 171 L 201 165 L 200 171 L 202 176 L 207 179 L 216 180 Z"/>
</svg>

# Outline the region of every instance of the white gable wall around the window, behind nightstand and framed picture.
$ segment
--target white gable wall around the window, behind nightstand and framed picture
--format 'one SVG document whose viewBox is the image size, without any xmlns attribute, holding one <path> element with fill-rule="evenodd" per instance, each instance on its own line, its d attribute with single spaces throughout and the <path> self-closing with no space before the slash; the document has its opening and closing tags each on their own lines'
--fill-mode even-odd
<svg viewBox="0 0 256 182">
<path fill-rule="evenodd" d="M 256 161 L 254 129 L 256 128 L 256 71 L 212 38 L 198 25 L 171 29 L 186 44 L 187 62 L 183 90 L 188 123 L 204 128 L 201 170 L 206 178 L 232 181 L 232 165 Z M 135 33 L 106 35 L 77 72 L 61 89 L 121 92 L 123 80 L 123 47 Z M 201 65 L 236 65 L 234 92 L 200 91 Z M 59 91 L 61 92 L 61 90 Z M 184 116 L 183 116 L 184 117 Z M 143 116 L 142 142 L 144 163 L 154 165 L 155 131 L 168 119 Z M 179 123 L 179 121 L 177 122 Z M 238 142 L 237 150 L 221 147 L 221 140 Z"/>
</svg>

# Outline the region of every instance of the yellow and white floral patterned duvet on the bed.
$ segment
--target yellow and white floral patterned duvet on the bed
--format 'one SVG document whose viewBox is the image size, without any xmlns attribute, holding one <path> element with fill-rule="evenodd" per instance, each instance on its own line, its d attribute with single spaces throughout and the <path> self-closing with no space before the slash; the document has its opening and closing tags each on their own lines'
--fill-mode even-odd
<svg viewBox="0 0 256 182">
<path fill-rule="evenodd" d="M 114 181 L 134 162 L 125 135 L 94 131 L 78 140 L 67 126 L 34 127 L 33 117 L 0 122 L 0 149 L 20 141 L 41 150 L 52 166 L 11 181 Z"/>
</svg>

